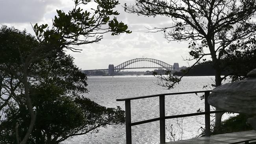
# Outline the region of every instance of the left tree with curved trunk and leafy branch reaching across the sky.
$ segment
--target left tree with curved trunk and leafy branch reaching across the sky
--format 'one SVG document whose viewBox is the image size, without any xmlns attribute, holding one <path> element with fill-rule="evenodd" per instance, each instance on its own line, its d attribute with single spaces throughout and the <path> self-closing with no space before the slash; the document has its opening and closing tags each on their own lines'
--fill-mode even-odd
<svg viewBox="0 0 256 144">
<path fill-rule="evenodd" d="M 113 10 L 115 6 L 119 4 L 118 1 L 95 0 L 93 2 L 95 2 L 97 7 L 92 10 L 92 13 L 86 10 L 83 11 L 83 9 L 79 7 L 89 2 L 91 2 L 91 0 L 74 0 L 74 8 L 68 13 L 57 10 L 58 15 L 52 20 L 53 24 L 51 28 L 48 27 L 48 24 L 42 24 L 40 26 L 35 24 L 33 29 L 36 35 L 35 41 L 38 42 L 37 45 L 27 47 L 27 43 L 22 43 L 22 48 L 24 48 L 24 51 L 22 51 L 20 45 L 8 43 L 12 43 L 12 41 L 19 43 L 19 40 L 24 40 L 24 37 L 33 39 L 32 42 L 35 42 L 34 37 L 28 35 L 22 35 L 20 39 L 15 40 L 8 39 L 7 43 L 3 42 L 0 44 L 1 50 L 7 50 L 8 52 L 0 61 L 0 73 L 4 73 L 5 76 L 12 75 L 13 78 L 16 78 L 16 81 L 20 81 L 19 83 L 23 85 L 24 88 L 24 101 L 21 102 L 28 108 L 27 110 L 30 113 L 30 124 L 26 130 L 26 135 L 20 140 L 18 134 L 19 126 L 18 124 L 16 126 L 17 144 L 26 144 L 36 122 L 36 111 L 33 109 L 34 106 L 29 92 L 30 83 L 28 81 L 32 63 L 37 63 L 46 57 L 55 55 L 63 49 L 79 51 L 73 46 L 98 42 L 102 39 L 103 33 L 111 32 L 111 35 L 131 33 L 131 31 L 127 30 L 128 27 L 124 23 L 118 22 L 117 18 L 113 17 L 119 15 L 117 11 Z M 108 24 L 108 26 L 106 26 L 106 24 Z M 1 30 L 3 35 L 17 31 L 8 28 L 1 28 Z M 0 37 L 3 37 L 3 35 Z M 13 60 L 16 62 L 9 63 L 6 60 L 9 59 L 9 56 L 12 56 L 13 50 L 16 51 L 15 54 L 18 54 L 16 57 L 13 57 Z M 16 68 L 16 64 L 19 68 Z M 13 80 L 11 79 L 11 81 Z M 14 95 L 12 96 L 14 97 Z M 19 101 L 19 99 L 20 98 L 17 97 L 17 99 L 14 100 Z M 4 97 L 2 100 L 4 105 L 6 105 L 10 99 L 9 97 Z"/>
</svg>

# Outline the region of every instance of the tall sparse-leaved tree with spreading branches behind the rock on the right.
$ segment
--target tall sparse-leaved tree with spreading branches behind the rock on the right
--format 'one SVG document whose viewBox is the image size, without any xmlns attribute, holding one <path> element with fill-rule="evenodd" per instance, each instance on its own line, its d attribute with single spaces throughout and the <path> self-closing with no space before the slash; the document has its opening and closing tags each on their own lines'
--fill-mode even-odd
<svg viewBox="0 0 256 144">
<path fill-rule="evenodd" d="M 135 5 L 125 4 L 124 9 L 148 17 L 169 17 L 171 25 L 154 28 L 154 32 L 163 31 L 168 41 L 190 40 L 188 48 L 192 58 L 188 60 L 205 61 L 203 58 L 210 56 L 216 86 L 226 78 L 221 77 L 220 62 L 231 50 L 231 44 L 249 39 L 256 31 L 256 25 L 250 19 L 256 11 L 255 0 L 135 0 Z M 164 87 L 171 89 L 182 77 L 167 74 L 167 77 L 159 78 L 165 81 L 162 83 Z M 221 116 L 216 114 L 215 131 L 219 129 Z"/>
</svg>

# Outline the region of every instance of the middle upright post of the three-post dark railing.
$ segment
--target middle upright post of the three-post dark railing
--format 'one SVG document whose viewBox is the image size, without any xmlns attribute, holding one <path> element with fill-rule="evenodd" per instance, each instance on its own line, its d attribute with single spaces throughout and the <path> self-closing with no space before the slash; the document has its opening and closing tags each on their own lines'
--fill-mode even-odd
<svg viewBox="0 0 256 144">
<path fill-rule="evenodd" d="M 160 143 L 165 144 L 165 95 L 159 96 Z"/>
</svg>

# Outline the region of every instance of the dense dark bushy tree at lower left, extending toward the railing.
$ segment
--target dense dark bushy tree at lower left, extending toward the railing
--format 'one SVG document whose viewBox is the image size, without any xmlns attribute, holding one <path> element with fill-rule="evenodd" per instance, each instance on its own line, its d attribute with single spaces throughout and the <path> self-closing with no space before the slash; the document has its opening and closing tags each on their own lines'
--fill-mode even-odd
<svg viewBox="0 0 256 144">
<path fill-rule="evenodd" d="M 99 127 L 124 124 L 120 107 L 106 108 L 83 97 L 87 92 L 84 73 L 78 71 L 73 58 L 60 52 L 31 67 L 30 96 L 37 113 L 28 144 L 58 144 L 75 135 L 98 132 Z M 23 93 L 17 97 L 24 101 Z M 30 119 L 25 105 L 9 102 L 0 121 L 0 143 L 12 143 L 18 124 L 19 136 L 24 137 Z"/>
</svg>

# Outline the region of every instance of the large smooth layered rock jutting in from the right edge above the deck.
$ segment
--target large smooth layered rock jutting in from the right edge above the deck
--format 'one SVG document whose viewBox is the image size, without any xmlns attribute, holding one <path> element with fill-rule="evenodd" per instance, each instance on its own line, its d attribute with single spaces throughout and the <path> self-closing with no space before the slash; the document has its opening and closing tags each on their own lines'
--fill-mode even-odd
<svg viewBox="0 0 256 144">
<path fill-rule="evenodd" d="M 256 69 L 247 76 L 249 78 L 213 89 L 208 103 L 229 112 L 256 115 Z"/>
</svg>

